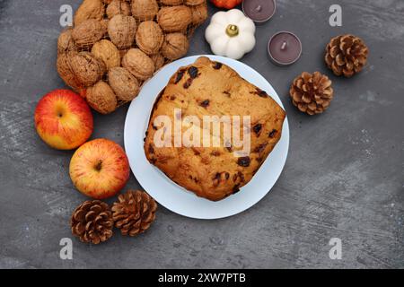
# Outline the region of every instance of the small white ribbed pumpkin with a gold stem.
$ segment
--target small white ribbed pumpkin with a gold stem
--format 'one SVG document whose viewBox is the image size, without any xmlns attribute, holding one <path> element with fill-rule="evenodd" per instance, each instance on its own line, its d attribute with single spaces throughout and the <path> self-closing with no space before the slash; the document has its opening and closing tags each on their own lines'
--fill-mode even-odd
<svg viewBox="0 0 404 287">
<path fill-rule="evenodd" d="M 255 24 L 238 9 L 220 11 L 212 16 L 205 38 L 215 55 L 237 60 L 255 47 Z"/>
</svg>

